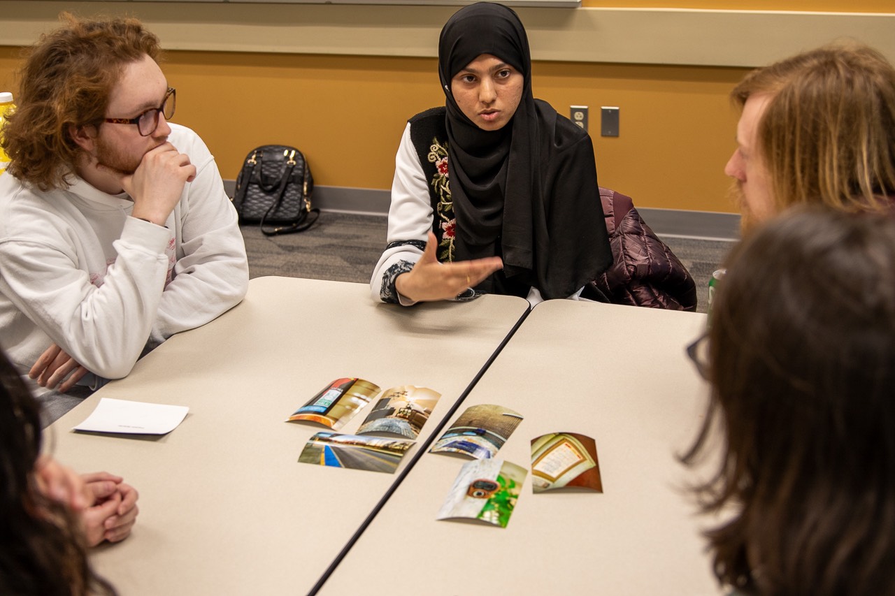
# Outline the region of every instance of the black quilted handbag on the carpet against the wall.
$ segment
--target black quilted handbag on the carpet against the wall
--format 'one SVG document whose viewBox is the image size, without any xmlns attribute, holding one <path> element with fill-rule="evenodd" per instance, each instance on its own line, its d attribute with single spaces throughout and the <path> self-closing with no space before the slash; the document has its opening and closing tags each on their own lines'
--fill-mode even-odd
<svg viewBox="0 0 895 596">
<path fill-rule="evenodd" d="M 311 168 L 301 151 L 262 145 L 246 156 L 233 203 L 240 223 L 258 223 L 265 235 L 302 232 L 320 217 L 320 209 L 311 209 L 313 189 Z"/>
</svg>

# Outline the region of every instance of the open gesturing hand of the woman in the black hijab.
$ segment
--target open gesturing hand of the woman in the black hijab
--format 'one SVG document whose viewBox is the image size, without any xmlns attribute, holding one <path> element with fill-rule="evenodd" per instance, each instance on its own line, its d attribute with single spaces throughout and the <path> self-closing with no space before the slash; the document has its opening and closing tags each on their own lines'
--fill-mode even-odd
<svg viewBox="0 0 895 596">
<path fill-rule="evenodd" d="M 396 278 L 395 289 L 407 300 L 450 300 L 503 267 L 499 257 L 441 263 L 435 254 L 437 244 L 435 234 L 430 232 L 420 260 L 413 269 Z"/>
</svg>

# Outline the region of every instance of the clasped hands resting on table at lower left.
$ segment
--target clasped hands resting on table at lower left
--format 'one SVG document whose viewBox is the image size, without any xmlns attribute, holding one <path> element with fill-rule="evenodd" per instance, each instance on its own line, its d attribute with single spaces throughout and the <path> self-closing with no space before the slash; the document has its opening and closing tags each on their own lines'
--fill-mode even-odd
<svg viewBox="0 0 895 596">
<path fill-rule="evenodd" d="M 35 464 L 38 490 L 80 515 L 87 543 L 123 541 L 137 521 L 140 495 L 121 476 L 107 472 L 76 474 L 52 457 Z"/>
</svg>

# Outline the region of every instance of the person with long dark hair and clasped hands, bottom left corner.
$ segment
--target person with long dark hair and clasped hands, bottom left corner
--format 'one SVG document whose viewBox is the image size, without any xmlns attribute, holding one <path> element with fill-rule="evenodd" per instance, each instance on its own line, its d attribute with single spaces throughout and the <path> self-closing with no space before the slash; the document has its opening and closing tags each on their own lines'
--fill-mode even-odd
<svg viewBox="0 0 895 596">
<path fill-rule="evenodd" d="M 121 513 L 123 498 L 100 498 L 111 474 L 80 477 L 40 455 L 40 405 L 13 364 L 0 353 L 0 593 L 114 594 L 88 563 L 88 546 L 130 532 L 136 506 Z M 95 479 L 104 479 L 95 481 Z M 117 482 L 107 480 L 117 479 Z M 124 485 L 126 487 L 126 485 Z M 136 502 L 130 487 L 128 500 Z M 97 540 L 97 537 L 99 539 Z"/>
</svg>

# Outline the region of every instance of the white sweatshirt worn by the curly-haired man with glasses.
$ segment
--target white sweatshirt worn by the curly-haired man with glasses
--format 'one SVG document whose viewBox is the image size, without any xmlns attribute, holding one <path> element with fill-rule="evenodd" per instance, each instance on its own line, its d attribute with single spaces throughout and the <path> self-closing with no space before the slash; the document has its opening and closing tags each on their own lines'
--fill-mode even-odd
<svg viewBox="0 0 895 596">
<path fill-rule="evenodd" d="M 118 379 L 148 340 L 199 327 L 243 299 L 245 244 L 214 158 L 195 132 L 170 126 L 168 140 L 197 172 L 166 227 L 130 217 L 126 194 L 73 175 L 70 188 L 51 192 L 0 175 L 0 346 L 21 372 L 55 343 Z"/>
</svg>

